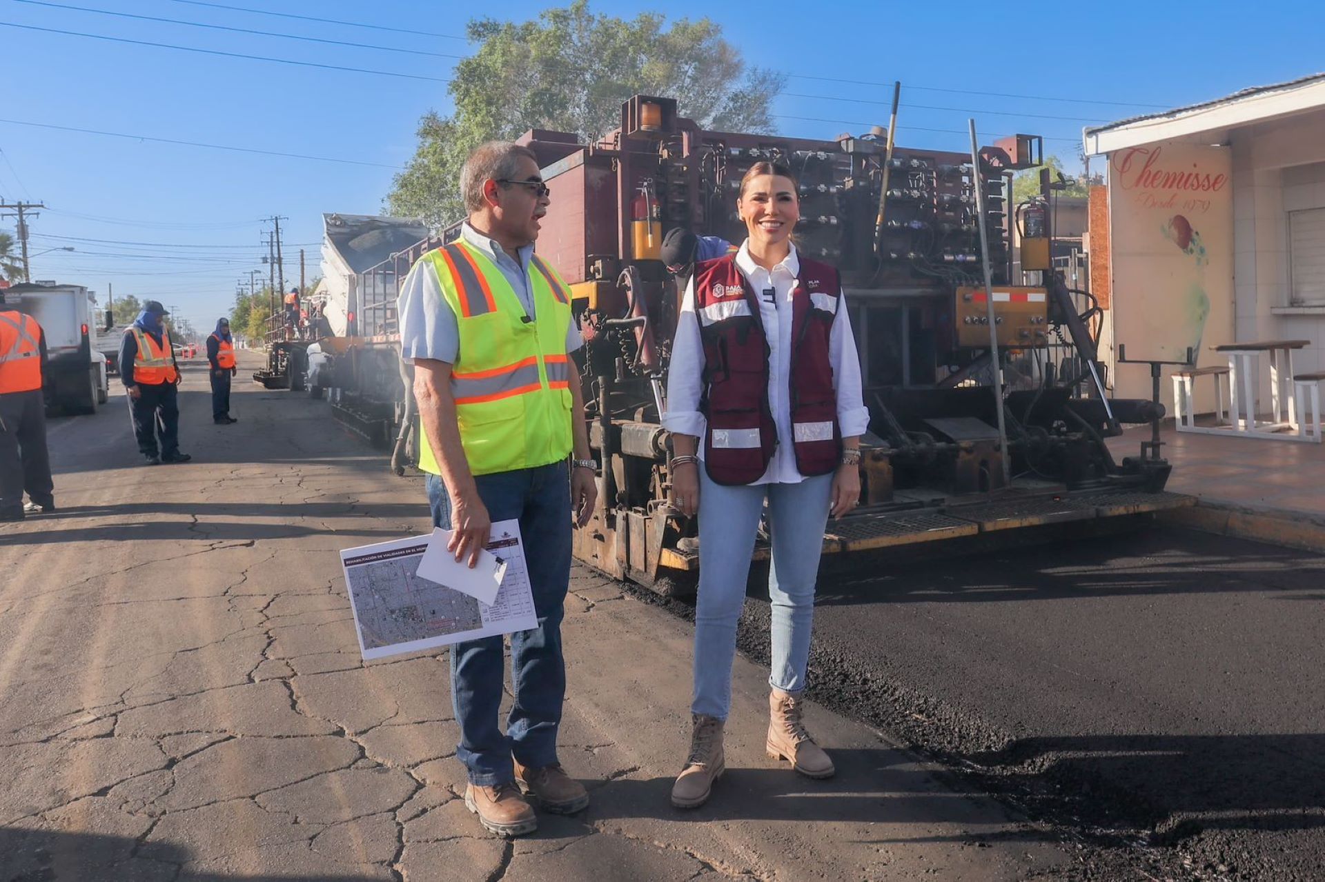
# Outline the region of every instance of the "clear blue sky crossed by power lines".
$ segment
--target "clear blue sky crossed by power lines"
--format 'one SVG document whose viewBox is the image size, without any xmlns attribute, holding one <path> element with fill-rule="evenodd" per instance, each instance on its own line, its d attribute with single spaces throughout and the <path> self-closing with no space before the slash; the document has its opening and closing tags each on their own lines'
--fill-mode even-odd
<svg viewBox="0 0 1325 882">
<path fill-rule="evenodd" d="M 5 64 L 0 107 L 0 196 L 44 201 L 32 222 L 34 278 L 178 305 L 195 326 L 229 310 L 236 279 L 261 269 L 261 234 L 282 221 L 286 278 L 298 248 L 317 275 L 322 212 L 376 213 L 394 168 L 413 151 L 429 109 L 449 113 L 443 82 L 211 56 L 50 33 L 193 46 L 288 61 L 444 79 L 466 54 L 473 15 L 424 0 L 216 0 L 223 5 L 408 29 L 411 33 L 240 12 L 184 0 L 0 0 Z M 543 3 L 510 0 L 501 15 L 534 17 Z M 782 134 L 832 138 L 886 123 L 889 85 L 902 81 L 897 139 L 966 150 L 966 119 L 982 140 L 1014 131 L 1047 138 L 1068 159 L 1084 124 L 1109 122 L 1322 69 L 1317 4 L 1118 4 L 1136 12 L 1061 3 L 704 4 L 670 0 L 670 17 L 718 21 L 750 64 L 798 74 L 775 103 Z M 419 53 L 325 45 L 85 9 L 246 28 Z M 633 16 L 661 4 L 596 3 Z M 750 9 L 758 9 L 751 13 Z M 811 17 L 804 11 L 814 9 Z M 1015 12 L 1014 12 L 1015 11 Z M 45 28 L 34 30 L 29 28 Z M 419 33 L 429 32 L 429 34 Z M 1041 36 L 1043 34 L 1043 36 Z M 1043 44 L 1043 48 L 1041 48 Z M 829 82 L 819 78 L 864 81 Z M 951 90 L 951 91 L 943 91 Z M 1000 94 L 977 94 L 1000 93 Z M 1015 95 L 1015 97 L 1014 97 Z M 869 103 L 877 102 L 877 103 Z M 800 118 L 800 119 L 798 119 Z M 831 121 L 831 122 L 819 122 Z M 331 156 L 364 164 L 242 154 L 103 132 Z M 13 220 L 0 221 L 12 230 Z M 293 260 L 292 260 L 293 258 Z"/>
</svg>

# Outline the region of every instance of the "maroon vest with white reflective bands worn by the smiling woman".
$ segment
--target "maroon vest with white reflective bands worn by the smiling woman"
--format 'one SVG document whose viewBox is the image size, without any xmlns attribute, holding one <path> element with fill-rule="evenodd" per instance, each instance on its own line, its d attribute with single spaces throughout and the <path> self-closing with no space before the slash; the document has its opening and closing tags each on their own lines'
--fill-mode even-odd
<svg viewBox="0 0 1325 882">
<path fill-rule="evenodd" d="M 837 270 L 800 261 L 791 294 L 791 428 L 796 469 L 828 474 L 841 457 L 837 393 L 828 339 L 841 306 Z M 708 420 L 704 465 L 717 483 L 754 483 L 772 461 L 778 428 L 768 408 L 768 343 L 754 289 L 735 256 L 704 261 L 694 270 L 694 313 L 704 340 Z"/>
</svg>

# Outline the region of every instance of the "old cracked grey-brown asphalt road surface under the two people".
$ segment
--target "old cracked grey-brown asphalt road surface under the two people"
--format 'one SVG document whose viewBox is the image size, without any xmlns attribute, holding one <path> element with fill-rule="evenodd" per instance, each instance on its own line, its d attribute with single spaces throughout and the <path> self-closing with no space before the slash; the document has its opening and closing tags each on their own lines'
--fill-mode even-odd
<svg viewBox="0 0 1325 882">
<path fill-rule="evenodd" d="M 252 369 L 254 358 L 242 354 Z M 738 661 L 727 776 L 668 804 L 690 629 L 576 571 L 562 759 L 592 791 L 537 836 L 457 795 L 445 653 L 363 663 L 337 551 L 428 528 L 326 404 L 186 369 L 187 465 L 143 467 L 121 396 L 52 422 L 60 513 L 0 528 L 0 879 L 1010 879 L 1077 858 L 872 728 L 812 707 L 839 776 L 763 756 Z"/>
</svg>

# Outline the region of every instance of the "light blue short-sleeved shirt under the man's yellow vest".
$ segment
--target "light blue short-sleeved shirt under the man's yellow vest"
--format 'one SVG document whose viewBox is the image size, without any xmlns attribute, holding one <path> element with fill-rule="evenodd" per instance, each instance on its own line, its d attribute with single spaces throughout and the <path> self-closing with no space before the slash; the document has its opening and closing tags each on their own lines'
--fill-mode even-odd
<svg viewBox="0 0 1325 882">
<path fill-rule="evenodd" d="M 493 260 L 501 274 L 510 282 L 515 297 L 525 307 L 525 313 L 534 318 L 534 286 L 529 278 L 529 262 L 534 254 L 534 246 L 521 248 L 518 252 L 519 262 L 517 262 L 496 240 L 484 236 L 468 222 L 461 225 L 460 237 Z M 460 358 L 460 324 L 456 322 L 456 314 L 447 298 L 441 294 L 441 282 L 437 279 L 432 261 L 419 261 L 409 270 L 400 286 L 396 314 L 400 320 L 400 358 L 405 362 L 415 359 L 436 359 L 448 364 L 457 362 Z M 566 331 L 566 351 L 574 352 L 583 344 L 579 327 L 571 319 L 571 326 Z"/>
</svg>

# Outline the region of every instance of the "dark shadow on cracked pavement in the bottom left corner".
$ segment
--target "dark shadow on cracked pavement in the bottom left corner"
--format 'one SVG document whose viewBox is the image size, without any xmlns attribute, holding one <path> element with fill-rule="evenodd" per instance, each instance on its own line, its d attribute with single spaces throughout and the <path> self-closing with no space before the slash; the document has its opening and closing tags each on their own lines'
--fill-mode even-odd
<svg viewBox="0 0 1325 882">
<path fill-rule="evenodd" d="M 242 844 L 237 844 L 241 846 Z M 180 871 L 191 859 L 188 849 L 171 842 L 140 842 L 127 836 L 68 833 L 0 826 L 0 879 L 4 882 L 221 882 L 238 878 L 231 873 Z M 258 877 L 244 877 L 258 878 Z M 292 882 L 370 882 L 380 877 L 356 874 L 293 875 Z"/>
</svg>

